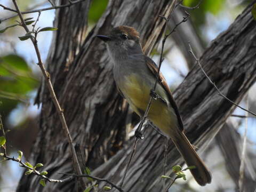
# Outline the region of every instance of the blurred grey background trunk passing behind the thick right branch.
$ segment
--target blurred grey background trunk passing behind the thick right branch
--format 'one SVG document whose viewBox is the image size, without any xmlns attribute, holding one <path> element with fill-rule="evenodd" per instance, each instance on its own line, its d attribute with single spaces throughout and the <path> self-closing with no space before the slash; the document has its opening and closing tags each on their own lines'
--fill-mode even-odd
<svg viewBox="0 0 256 192">
<path fill-rule="evenodd" d="M 179 9 L 175 9 L 173 17 L 171 17 L 172 21 L 169 25 L 173 28 L 175 23 L 179 23 L 181 21 L 184 14 L 185 13 L 183 13 L 181 7 L 179 7 Z M 191 12 L 191 14 L 193 14 L 193 12 Z M 203 47 L 201 39 L 197 35 L 191 20 L 188 19 L 185 23 L 182 23 L 182 25 L 177 28 L 177 33 L 172 34 L 171 37 L 186 58 L 188 68 L 191 69 L 195 65 L 195 59 L 193 55 L 188 52 L 188 42 L 190 42 L 193 51 L 197 55 L 202 55 L 205 50 L 205 47 Z M 251 101 L 250 103 L 254 102 Z M 253 104 L 250 105 L 250 110 L 255 111 L 254 109 Z M 215 142 L 211 142 L 209 148 L 214 149 L 217 146 L 219 147 L 225 161 L 226 169 L 236 185 L 234 190 L 238 191 L 239 167 L 241 164 L 241 155 L 239 154 L 241 154 L 242 149 L 241 135 L 235 131 L 235 127 L 229 121 L 223 125 L 223 128 L 218 132 L 214 139 Z M 250 153 L 251 150 L 252 149 L 247 148 L 247 153 Z M 209 150 L 207 150 L 207 153 L 210 153 Z M 246 172 L 243 180 L 243 191 L 254 191 L 256 166 L 254 166 L 253 162 L 255 161 L 255 156 L 251 153 L 249 156 L 249 158 L 246 158 Z"/>
</svg>

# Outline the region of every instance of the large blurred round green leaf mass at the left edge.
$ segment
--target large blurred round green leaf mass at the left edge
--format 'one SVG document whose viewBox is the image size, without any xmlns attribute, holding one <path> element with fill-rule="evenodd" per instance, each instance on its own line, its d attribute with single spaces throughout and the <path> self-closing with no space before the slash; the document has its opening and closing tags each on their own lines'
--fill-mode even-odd
<svg viewBox="0 0 256 192">
<path fill-rule="evenodd" d="M 1 111 L 10 113 L 8 111 L 14 109 L 19 102 L 28 102 L 28 93 L 37 89 L 38 84 L 38 78 L 25 59 L 14 54 L 0 57 Z M 25 123 L 25 121 L 21 123 Z M 20 125 L 17 126 L 21 127 Z"/>
</svg>

